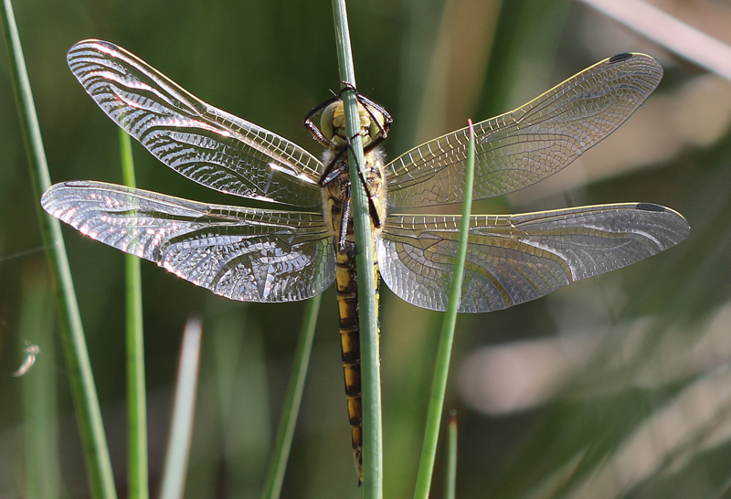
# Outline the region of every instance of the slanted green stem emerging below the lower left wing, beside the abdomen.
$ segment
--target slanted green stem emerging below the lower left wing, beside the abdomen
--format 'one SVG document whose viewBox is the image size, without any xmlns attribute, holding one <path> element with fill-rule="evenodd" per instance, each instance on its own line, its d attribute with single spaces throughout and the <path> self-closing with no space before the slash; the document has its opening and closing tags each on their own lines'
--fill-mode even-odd
<svg viewBox="0 0 731 499">
<path fill-rule="evenodd" d="M 308 300 L 302 317 L 302 328 L 297 349 L 294 353 L 294 366 L 291 372 L 290 386 L 284 399 L 284 408 L 281 411 L 280 428 L 277 432 L 277 441 L 271 455 L 270 471 L 267 477 L 267 486 L 264 489 L 265 499 L 278 499 L 281 494 L 281 483 L 284 482 L 284 472 L 287 470 L 287 461 L 290 458 L 291 441 L 297 415 L 302 403 L 304 380 L 307 377 L 307 367 L 310 366 L 310 356 L 313 352 L 314 328 L 320 313 L 322 294 Z"/>
</svg>

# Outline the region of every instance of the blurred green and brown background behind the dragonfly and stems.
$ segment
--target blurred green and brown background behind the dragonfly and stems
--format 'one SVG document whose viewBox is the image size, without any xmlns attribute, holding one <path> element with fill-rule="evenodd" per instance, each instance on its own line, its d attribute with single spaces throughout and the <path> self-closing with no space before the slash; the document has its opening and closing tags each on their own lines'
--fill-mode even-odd
<svg viewBox="0 0 731 499">
<path fill-rule="evenodd" d="M 503 312 L 461 316 L 448 399 L 460 419 L 458 497 L 729 496 L 731 83 L 576 2 L 348 6 L 358 88 L 396 120 L 390 157 L 467 118 L 513 109 L 616 53 L 646 52 L 665 69 L 640 111 L 574 165 L 474 207 L 487 213 L 653 202 L 683 213 L 692 232 L 679 247 L 630 268 Z M 727 3 L 662 6 L 731 42 Z M 88 37 L 121 45 L 204 101 L 319 151 L 302 118 L 339 88 L 330 2 L 29 0 L 15 7 L 54 182 L 121 182 L 117 129 L 66 66 L 69 47 Z M 87 497 L 5 64 L 0 151 L 0 498 Z M 176 175 L 136 143 L 134 154 L 138 186 L 240 201 Z M 123 257 L 71 229 L 65 234 L 123 495 Z M 408 497 L 440 314 L 382 289 L 386 495 Z M 231 303 L 150 262 L 143 263 L 143 293 L 153 494 L 181 331 L 198 312 L 204 345 L 186 496 L 258 497 L 302 303 Z M 360 494 L 336 321 L 331 289 L 284 497 Z M 10 377 L 25 340 L 40 345 L 37 365 Z M 41 438 L 30 438 L 38 428 Z M 46 447 L 34 447 L 38 441 Z M 440 470 L 438 461 L 434 496 Z"/>
</svg>

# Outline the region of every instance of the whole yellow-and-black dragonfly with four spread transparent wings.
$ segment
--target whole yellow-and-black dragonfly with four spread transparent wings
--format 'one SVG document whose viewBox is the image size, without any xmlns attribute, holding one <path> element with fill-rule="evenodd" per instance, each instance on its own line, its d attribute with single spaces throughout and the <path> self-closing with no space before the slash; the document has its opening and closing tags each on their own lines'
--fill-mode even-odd
<svg viewBox="0 0 731 499">
<path fill-rule="evenodd" d="M 208 204 L 88 180 L 51 186 L 44 209 L 91 239 L 232 300 L 300 301 L 336 281 L 348 415 L 362 479 L 357 249 L 341 99 L 324 102 L 305 119 L 325 149 L 318 159 L 199 100 L 110 42 L 81 41 L 67 58 L 101 110 L 164 165 L 229 195 L 301 210 Z M 566 167 L 627 120 L 661 79 L 654 58 L 620 54 L 514 111 L 476 123 L 473 199 L 503 196 Z M 379 145 L 390 115 L 358 94 L 358 117 L 365 165 L 356 181 L 366 187 L 376 271 L 406 302 L 443 311 L 461 217 L 391 210 L 461 202 L 467 128 L 387 163 Z M 459 310 L 492 312 L 534 300 L 667 250 L 689 230 L 682 215 L 652 203 L 473 215 Z"/>
</svg>

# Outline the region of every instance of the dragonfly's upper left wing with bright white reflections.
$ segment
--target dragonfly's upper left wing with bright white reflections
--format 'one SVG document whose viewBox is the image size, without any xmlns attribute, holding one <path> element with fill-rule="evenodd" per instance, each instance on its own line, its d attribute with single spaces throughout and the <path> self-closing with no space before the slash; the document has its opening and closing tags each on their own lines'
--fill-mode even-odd
<svg viewBox="0 0 731 499">
<path fill-rule="evenodd" d="M 79 42 L 67 59 L 101 110 L 179 174 L 237 196 L 320 205 L 321 163 L 302 147 L 197 99 L 110 42 Z"/>
</svg>

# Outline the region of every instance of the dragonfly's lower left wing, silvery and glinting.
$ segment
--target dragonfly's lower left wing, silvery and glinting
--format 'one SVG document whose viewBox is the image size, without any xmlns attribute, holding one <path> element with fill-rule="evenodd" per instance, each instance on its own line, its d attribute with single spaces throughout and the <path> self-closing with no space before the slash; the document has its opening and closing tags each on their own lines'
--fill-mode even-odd
<svg viewBox="0 0 731 499">
<path fill-rule="evenodd" d="M 87 181 L 51 186 L 41 205 L 91 239 L 232 300 L 304 300 L 334 281 L 334 243 L 318 214 L 207 205 Z"/>
</svg>

